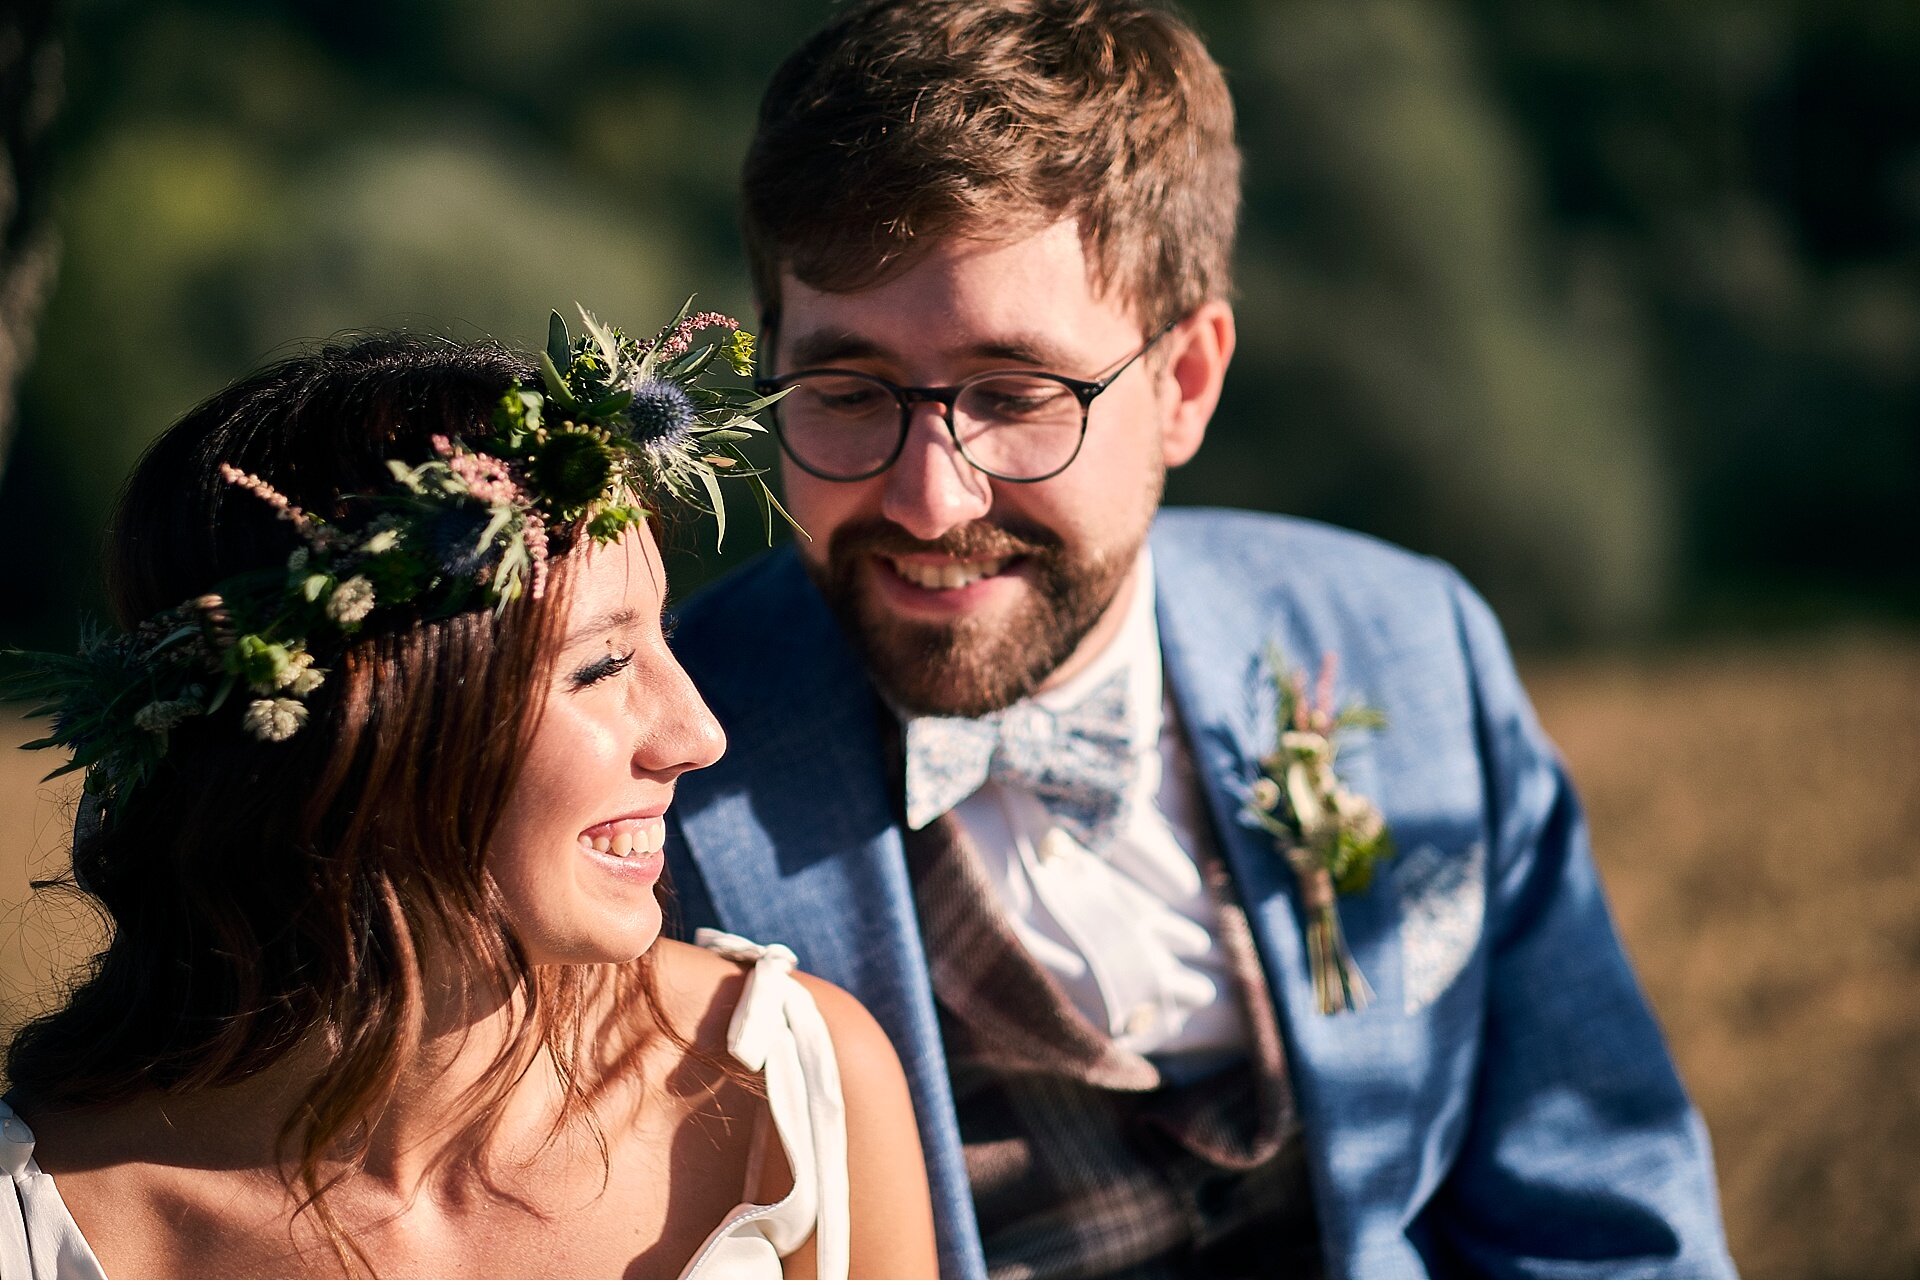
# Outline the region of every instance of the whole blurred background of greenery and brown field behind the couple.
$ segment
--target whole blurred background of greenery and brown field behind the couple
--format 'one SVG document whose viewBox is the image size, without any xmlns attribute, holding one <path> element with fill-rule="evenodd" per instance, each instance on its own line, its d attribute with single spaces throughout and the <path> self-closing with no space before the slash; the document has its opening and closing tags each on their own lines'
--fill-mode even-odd
<svg viewBox="0 0 1920 1285">
<path fill-rule="evenodd" d="M 0 4 L 0 643 L 71 645 L 144 444 L 290 346 L 530 346 L 553 305 L 643 328 L 693 288 L 749 319 L 735 171 L 828 12 Z M 1187 12 L 1248 211 L 1240 355 L 1171 499 L 1486 592 L 1741 1268 L 1920 1273 L 1920 6 Z M 0 755 L 0 1026 L 90 932 L 27 897 L 63 857 L 50 766 Z"/>
</svg>

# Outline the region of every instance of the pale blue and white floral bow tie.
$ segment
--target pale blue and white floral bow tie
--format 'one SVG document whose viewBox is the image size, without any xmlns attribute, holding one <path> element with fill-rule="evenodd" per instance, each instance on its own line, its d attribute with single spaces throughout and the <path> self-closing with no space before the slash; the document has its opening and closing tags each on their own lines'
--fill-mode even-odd
<svg viewBox="0 0 1920 1285">
<path fill-rule="evenodd" d="M 1096 853 L 1125 816 L 1139 749 L 1127 711 L 1127 674 L 1114 674 L 1077 705 L 1054 711 L 1016 701 L 983 718 L 912 718 L 906 724 L 906 824 L 920 830 L 989 780 L 1031 791 Z"/>
</svg>

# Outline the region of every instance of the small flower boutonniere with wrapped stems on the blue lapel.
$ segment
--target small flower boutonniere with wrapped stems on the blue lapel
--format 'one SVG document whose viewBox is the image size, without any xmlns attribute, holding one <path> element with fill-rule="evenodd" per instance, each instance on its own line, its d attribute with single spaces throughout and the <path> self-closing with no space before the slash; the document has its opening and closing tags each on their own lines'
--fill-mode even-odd
<svg viewBox="0 0 1920 1285">
<path fill-rule="evenodd" d="M 1275 645 L 1267 647 L 1267 680 L 1273 684 L 1273 751 L 1260 761 L 1260 776 L 1246 791 L 1242 816 L 1273 836 L 1300 884 L 1308 916 L 1308 962 L 1313 995 L 1323 1014 L 1357 1012 L 1373 1001 L 1373 987 L 1340 932 L 1338 899 L 1365 891 L 1375 864 L 1394 855 L 1394 837 L 1373 799 L 1354 793 L 1334 772 L 1340 734 L 1384 728 L 1386 715 L 1365 705 L 1332 707 L 1336 659 L 1329 651 L 1319 680 L 1308 691 L 1306 670 L 1288 670 Z"/>
</svg>

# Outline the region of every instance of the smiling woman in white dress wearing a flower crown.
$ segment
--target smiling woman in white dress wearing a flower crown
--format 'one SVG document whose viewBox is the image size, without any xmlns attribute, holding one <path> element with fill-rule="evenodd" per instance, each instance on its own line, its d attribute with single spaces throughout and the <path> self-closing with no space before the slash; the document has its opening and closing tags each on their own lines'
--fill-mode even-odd
<svg viewBox="0 0 1920 1285">
<path fill-rule="evenodd" d="M 119 505 L 125 632 L 12 657 L 111 937 L 8 1053 L 0 1275 L 935 1273 L 872 1016 L 660 937 L 724 738 L 655 532 L 751 473 L 701 382 L 749 340 L 586 321 L 541 378 L 386 336 L 221 392 Z"/>
</svg>

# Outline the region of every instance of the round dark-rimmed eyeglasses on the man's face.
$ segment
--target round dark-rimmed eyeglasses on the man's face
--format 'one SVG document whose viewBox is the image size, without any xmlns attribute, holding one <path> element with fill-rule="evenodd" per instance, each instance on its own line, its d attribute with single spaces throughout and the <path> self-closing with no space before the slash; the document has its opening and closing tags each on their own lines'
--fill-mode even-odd
<svg viewBox="0 0 1920 1285">
<path fill-rule="evenodd" d="M 755 380 L 762 396 L 787 390 L 770 409 L 787 457 L 828 482 L 879 476 L 900 457 L 914 405 L 937 401 L 960 455 L 1002 482 L 1044 482 L 1079 455 L 1092 400 L 1114 386 L 1179 317 L 1125 357 L 1106 378 L 1048 371 L 985 371 L 958 384 L 902 388 L 862 371 L 810 369 Z"/>
</svg>

